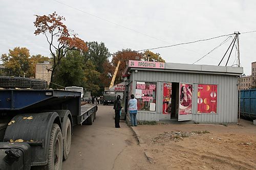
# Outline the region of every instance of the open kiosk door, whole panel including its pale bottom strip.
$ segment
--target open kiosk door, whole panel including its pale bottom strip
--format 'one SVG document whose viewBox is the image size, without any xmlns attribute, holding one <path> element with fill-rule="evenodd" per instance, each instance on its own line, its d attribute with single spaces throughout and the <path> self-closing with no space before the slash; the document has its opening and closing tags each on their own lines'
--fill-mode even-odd
<svg viewBox="0 0 256 170">
<path fill-rule="evenodd" d="M 192 92 L 191 84 L 180 83 L 178 121 L 192 119 Z"/>
</svg>

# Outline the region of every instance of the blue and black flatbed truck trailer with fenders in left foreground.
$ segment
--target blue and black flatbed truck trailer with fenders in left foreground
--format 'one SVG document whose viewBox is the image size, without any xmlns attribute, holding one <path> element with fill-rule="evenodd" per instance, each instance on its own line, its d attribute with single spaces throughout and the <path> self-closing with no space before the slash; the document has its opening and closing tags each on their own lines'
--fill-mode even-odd
<svg viewBox="0 0 256 170">
<path fill-rule="evenodd" d="M 0 169 L 61 169 L 73 127 L 92 125 L 97 106 L 81 106 L 77 91 L 14 88 L 16 79 L 0 77 Z"/>
</svg>

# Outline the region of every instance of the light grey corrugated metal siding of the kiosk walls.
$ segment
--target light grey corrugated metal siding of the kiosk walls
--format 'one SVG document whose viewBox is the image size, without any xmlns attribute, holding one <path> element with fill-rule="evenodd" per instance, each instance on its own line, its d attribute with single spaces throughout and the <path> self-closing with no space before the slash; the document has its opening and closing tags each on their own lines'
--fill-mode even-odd
<svg viewBox="0 0 256 170">
<path fill-rule="evenodd" d="M 201 123 L 237 123 L 238 86 L 236 76 L 196 74 L 186 72 L 144 71 L 138 70 L 131 75 L 133 93 L 136 81 L 157 82 L 156 112 L 139 112 L 139 120 L 156 120 L 161 118 L 163 82 L 180 82 L 193 84 L 193 120 Z M 197 114 L 197 87 L 198 84 L 216 84 L 217 114 Z"/>
</svg>

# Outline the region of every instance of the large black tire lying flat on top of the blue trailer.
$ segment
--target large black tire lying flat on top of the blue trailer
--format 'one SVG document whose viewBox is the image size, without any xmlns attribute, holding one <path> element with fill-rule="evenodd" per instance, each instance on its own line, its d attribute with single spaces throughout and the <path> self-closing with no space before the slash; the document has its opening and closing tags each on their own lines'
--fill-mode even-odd
<svg viewBox="0 0 256 170">
<path fill-rule="evenodd" d="M 1 88 L 47 89 L 47 81 L 22 77 L 0 77 Z"/>
</svg>

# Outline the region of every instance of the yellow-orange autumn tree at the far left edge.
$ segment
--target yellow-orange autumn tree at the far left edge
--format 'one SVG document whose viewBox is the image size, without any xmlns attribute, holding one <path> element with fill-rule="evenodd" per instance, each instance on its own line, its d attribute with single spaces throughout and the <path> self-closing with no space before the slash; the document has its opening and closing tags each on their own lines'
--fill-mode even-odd
<svg viewBox="0 0 256 170">
<path fill-rule="evenodd" d="M 33 75 L 32 62 L 29 59 L 29 50 L 26 47 L 15 47 L 9 50 L 9 54 L 2 55 L 8 76 L 31 77 Z"/>
</svg>

